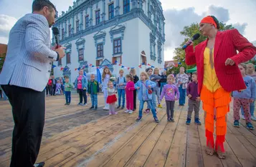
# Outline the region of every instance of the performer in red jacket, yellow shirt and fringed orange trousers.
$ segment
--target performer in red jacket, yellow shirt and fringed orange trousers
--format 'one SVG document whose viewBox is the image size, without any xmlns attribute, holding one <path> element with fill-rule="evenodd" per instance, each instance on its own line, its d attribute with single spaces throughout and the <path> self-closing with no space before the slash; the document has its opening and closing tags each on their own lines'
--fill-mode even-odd
<svg viewBox="0 0 256 167">
<path fill-rule="evenodd" d="M 225 158 L 223 143 L 227 131 L 230 93 L 246 88 L 238 65 L 252 59 L 256 48 L 237 29 L 218 31 L 219 21 L 214 16 L 205 17 L 199 26 L 202 35 L 208 38 L 195 46 L 195 49 L 193 43 L 186 48 L 186 64 L 197 66 L 198 90 L 205 111 L 207 154 L 214 153 L 215 115 L 215 151 L 219 158 Z"/>
</svg>

